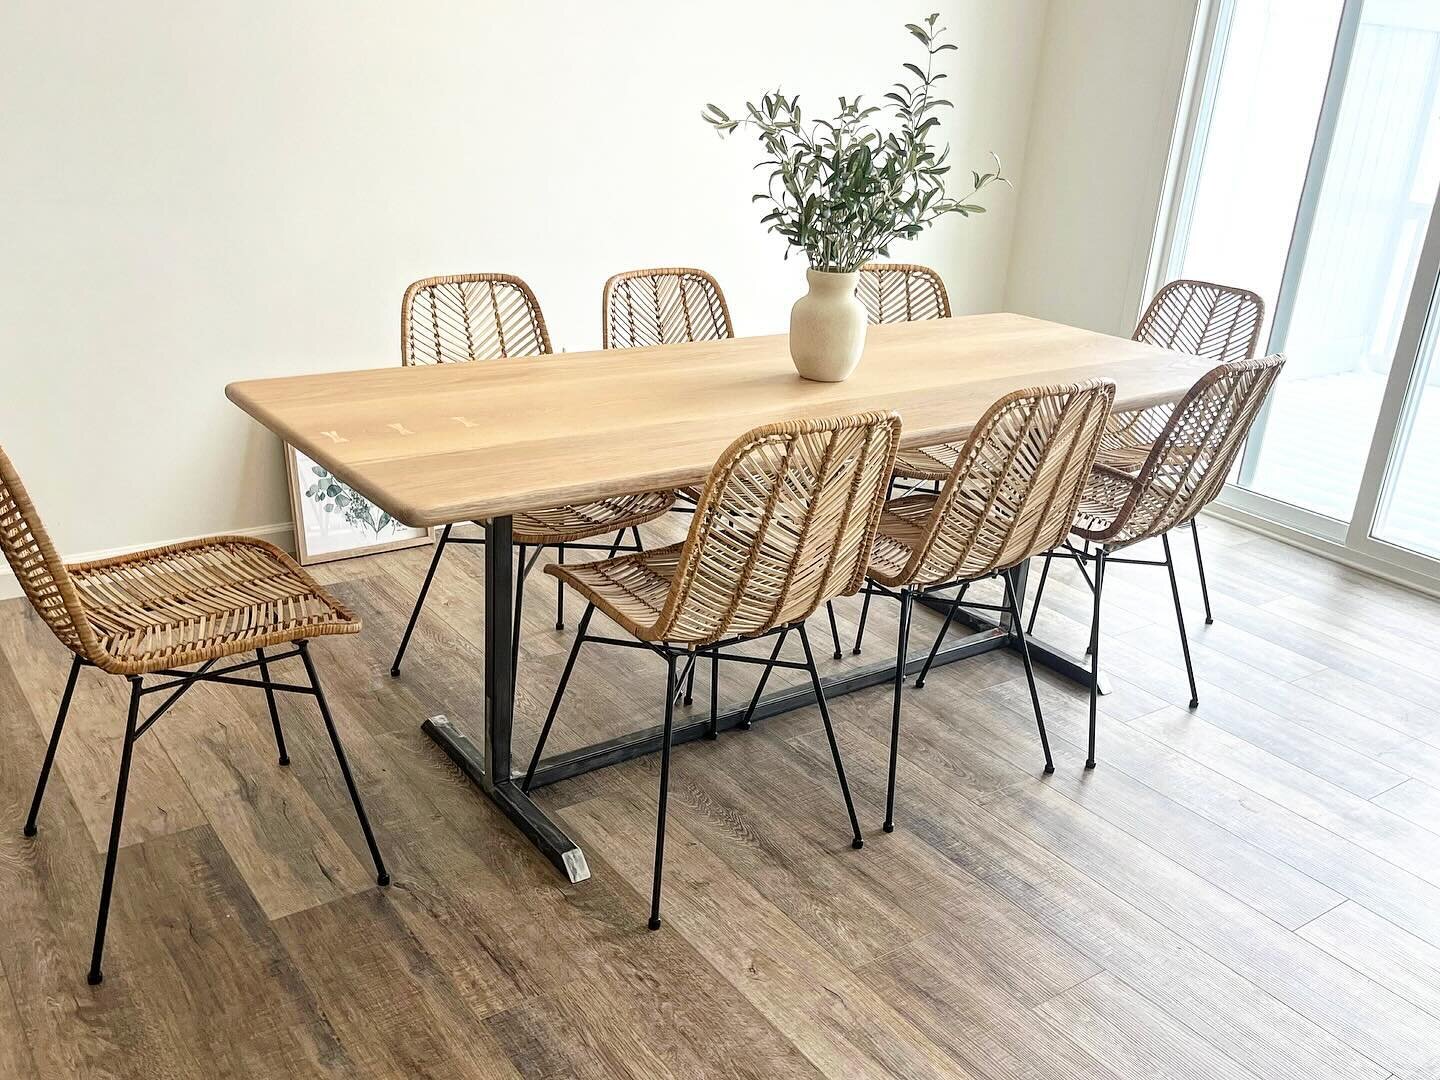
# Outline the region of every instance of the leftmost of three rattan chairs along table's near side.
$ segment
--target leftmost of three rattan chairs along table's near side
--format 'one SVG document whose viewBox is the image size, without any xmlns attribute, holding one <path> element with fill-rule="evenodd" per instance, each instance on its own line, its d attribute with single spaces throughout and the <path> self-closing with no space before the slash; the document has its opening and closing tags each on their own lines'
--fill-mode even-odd
<svg viewBox="0 0 1440 1080">
<path fill-rule="evenodd" d="M 773 665 L 809 672 L 850 814 L 851 844 L 857 848 L 864 844 L 805 634 L 805 619 L 825 600 L 848 596 L 864 583 L 899 436 L 900 418 L 893 413 L 757 428 L 720 455 L 700 492 L 684 543 L 583 566 L 546 567 L 547 573 L 579 590 L 589 606 L 536 742 L 523 782 L 526 791 L 534 779 L 585 642 L 649 649 L 665 661 L 665 726 L 649 912 L 652 930 L 660 926 L 670 749 L 677 664 L 681 660 L 693 667 L 700 657 L 707 657 L 711 687 L 723 660 L 768 664 L 766 671 Z M 592 636 L 590 618 L 596 609 L 634 641 Z M 805 651 L 804 662 L 779 660 L 792 629 Z M 770 635 L 775 635 L 776 644 L 769 661 L 726 651 Z M 750 713 L 757 698 L 759 688 Z M 714 736 L 717 703 L 713 690 L 710 700 L 708 734 Z"/>
</svg>

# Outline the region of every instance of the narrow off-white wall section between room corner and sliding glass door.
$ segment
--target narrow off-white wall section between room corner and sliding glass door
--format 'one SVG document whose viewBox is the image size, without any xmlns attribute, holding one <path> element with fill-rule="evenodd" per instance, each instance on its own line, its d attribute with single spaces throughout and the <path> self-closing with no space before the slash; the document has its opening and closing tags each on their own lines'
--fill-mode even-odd
<svg viewBox="0 0 1440 1080">
<path fill-rule="evenodd" d="M 1197 0 L 1053 0 L 1004 305 L 1135 328 Z"/>
</svg>

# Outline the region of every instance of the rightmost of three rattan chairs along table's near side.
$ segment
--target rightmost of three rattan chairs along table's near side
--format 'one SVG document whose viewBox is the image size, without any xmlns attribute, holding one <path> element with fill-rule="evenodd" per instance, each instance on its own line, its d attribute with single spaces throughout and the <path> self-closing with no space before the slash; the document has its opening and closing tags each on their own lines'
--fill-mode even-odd
<svg viewBox="0 0 1440 1080">
<path fill-rule="evenodd" d="M 1090 624 L 1090 737 L 1086 768 L 1094 768 L 1096 708 L 1100 678 L 1100 598 L 1104 590 L 1107 567 L 1116 563 L 1129 566 L 1164 566 L 1169 573 L 1171 599 L 1175 603 L 1175 622 L 1179 628 L 1181 654 L 1185 658 L 1185 675 L 1189 680 L 1189 707 L 1200 706 L 1200 691 L 1195 687 L 1195 667 L 1189 655 L 1189 641 L 1185 635 L 1185 613 L 1179 602 L 1179 585 L 1175 580 L 1175 560 L 1171 556 L 1169 533 L 1172 528 L 1194 521 L 1220 494 L 1244 445 L 1246 436 L 1264 403 L 1266 395 L 1284 367 L 1283 356 L 1267 356 L 1261 360 L 1236 360 L 1220 364 L 1189 389 L 1189 392 L 1168 410 L 1161 422 L 1156 415 L 1143 419 L 1138 429 L 1151 449 L 1135 472 L 1096 464 L 1086 485 L 1080 507 L 1076 511 L 1073 534 L 1083 541 L 1081 547 L 1066 543 L 1063 553 L 1074 559 L 1081 570 L 1093 564 L 1094 576 L 1086 575 L 1094 599 L 1094 613 Z M 1155 425 L 1155 426 L 1151 426 Z M 1120 559 L 1116 552 L 1159 537 L 1164 546 L 1164 560 Z M 1045 557 L 1045 573 L 1035 590 L 1035 608 L 1044 596 L 1050 560 Z M 1031 618 L 1034 622 L 1034 616 Z"/>
</svg>

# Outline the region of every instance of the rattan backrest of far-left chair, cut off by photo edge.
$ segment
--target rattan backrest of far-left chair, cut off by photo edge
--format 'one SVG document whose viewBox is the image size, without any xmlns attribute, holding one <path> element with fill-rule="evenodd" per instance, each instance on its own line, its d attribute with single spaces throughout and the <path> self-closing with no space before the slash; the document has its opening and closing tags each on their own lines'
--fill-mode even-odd
<svg viewBox="0 0 1440 1080">
<path fill-rule="evenodd" d="M 85 618 L 79 593 L 49 533 L 0 448 L 0 549 L 20 580 L 30 605 L 60 644 L 89 661 L 102 660 L 95 631 Z"/>
</svg>

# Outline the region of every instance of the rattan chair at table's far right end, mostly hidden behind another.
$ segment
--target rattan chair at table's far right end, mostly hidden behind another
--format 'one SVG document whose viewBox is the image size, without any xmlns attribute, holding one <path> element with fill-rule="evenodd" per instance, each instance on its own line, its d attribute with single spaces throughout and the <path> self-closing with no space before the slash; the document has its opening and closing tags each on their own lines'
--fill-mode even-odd
<svg viewBox="0 0 1440 1080">
<path fill-rule="evenodd" d="M 1155 294 L 1140 315 L 1133 337 L 1145 344 L 1202 356 L 1215 363 L 1228 363 L 1247 360 L 1256 354 L 1263 323 L 1264 301 L 1254 292 L 1233 285 L 1182 278 Z M 1100 444 L 1100 464 L 1122 472 L 1136 472 L 1145 464 L 1155 435 L 1171 409 L 1171 405 L 1161 405 L 1112 416 L 1110 431 Z M 1215 616 L 1210 608 L 1205 557 L 1200 550 L 1200 530 L 1194 518 L 1189 521 L 1189 534 L 1195 541 L 1200 596 L 1205 605 L 1205 622 L 1210 624 Z"/>
</svg>

